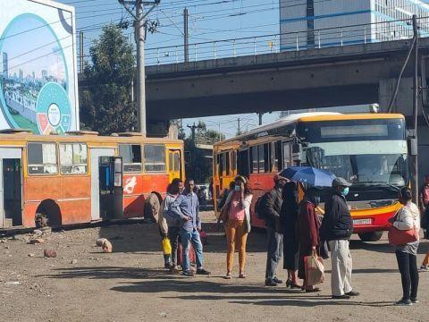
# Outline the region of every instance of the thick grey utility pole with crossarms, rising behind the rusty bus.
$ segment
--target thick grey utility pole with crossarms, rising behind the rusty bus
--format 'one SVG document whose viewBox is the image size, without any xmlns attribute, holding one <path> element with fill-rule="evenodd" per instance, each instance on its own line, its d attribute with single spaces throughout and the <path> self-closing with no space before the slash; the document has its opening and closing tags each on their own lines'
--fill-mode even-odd
<svg viewBox="0 0 429 322">
<path fill-rule="evenodd" d="M 147 15 L 155 9 L 161 0 L 143 1 L 143 0 L 118 0 L 120 4 L 134 18 L 134 35 L 137 47 L 137 121 L 141 134 L 146 137 L 146 72 L 145 72 L 145 42 L 147 36 Z M 151 7 L 146 13 L 143 13 L 143 7 L 150 5 Z M 135 8 L 136 13 L 133 13 L 131 6 Z"/>
</svg>

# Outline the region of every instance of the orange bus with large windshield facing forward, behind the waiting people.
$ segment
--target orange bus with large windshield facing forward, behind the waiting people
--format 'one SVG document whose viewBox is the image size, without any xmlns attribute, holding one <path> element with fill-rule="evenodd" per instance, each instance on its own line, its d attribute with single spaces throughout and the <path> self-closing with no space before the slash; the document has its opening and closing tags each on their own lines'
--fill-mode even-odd
<svg viewBox="0 0 429 322">
<path fill-rule="evenodd" d="M 409 184 L 405 118 L 291 114 L 219 142 L 214 145 L 214 201 L 235 175 L 242 174 L 250 179 L 255 202 L 273 187 L 273 175 L 291 165 L 315 166 L 352 182 L 347 199 L 355 233 L 363 241 L 376 241 L 400 208 L 400 187 Z M 326 197 L 323 192 L 322 201 Z M 252 225 L 265 226 L 254 211 L 251 218 Z"/>
</svg>

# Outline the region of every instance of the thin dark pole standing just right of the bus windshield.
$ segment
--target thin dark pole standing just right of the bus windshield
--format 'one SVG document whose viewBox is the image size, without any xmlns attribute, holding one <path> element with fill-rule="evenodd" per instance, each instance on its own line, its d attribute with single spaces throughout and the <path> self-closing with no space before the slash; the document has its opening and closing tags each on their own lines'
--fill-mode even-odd
<svg viewBox="0 0 429 322">
<path fill-rule="evenodd" d="M 413 171 L 413 194 L 416 204 L 418 205 L 418 145 L 417 145 L 417 116 L 418 116 L 418 26 L 417 16 L 413 15 L 413 31 L 416 42 L 414 44 L 414 80 L 413 80 L 413 130 L 414 138 L 412 139 L 412 164 L 414 165 Z"/>
</svg>

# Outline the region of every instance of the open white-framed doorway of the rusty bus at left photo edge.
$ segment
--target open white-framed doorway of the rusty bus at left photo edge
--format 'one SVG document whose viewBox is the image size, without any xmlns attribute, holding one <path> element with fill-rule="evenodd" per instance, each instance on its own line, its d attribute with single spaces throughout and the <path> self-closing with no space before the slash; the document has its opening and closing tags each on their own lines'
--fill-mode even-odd
<svg viewBox="0 0 429 322">
<path fill-rule="evenodd" d="M 21 148 L 0 148 L 0 227 L 22 225 Z"/>
</svg>

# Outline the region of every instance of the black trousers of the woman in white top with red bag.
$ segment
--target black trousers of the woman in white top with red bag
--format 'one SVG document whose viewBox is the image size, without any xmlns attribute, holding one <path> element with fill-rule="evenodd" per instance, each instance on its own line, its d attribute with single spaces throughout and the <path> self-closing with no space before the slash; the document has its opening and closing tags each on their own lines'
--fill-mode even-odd
<svg viewBox="0 0 429 322">
<path fill-rule="evenodd" d="M 408 254 L 404 251 L 396 250 L 396 259 L 400 267 L 400 279 L 402 281 L 403 299 L 410 300 L 417 298 L 418 269 L 416 255 Z"/>
</svg>

